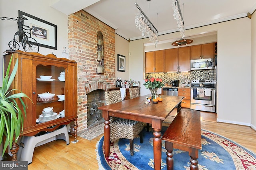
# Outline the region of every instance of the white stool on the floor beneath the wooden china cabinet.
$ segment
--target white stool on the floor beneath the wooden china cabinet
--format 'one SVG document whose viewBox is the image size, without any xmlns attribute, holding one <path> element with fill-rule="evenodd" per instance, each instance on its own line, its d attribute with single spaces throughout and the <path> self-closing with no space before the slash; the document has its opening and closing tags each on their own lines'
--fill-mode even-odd
<svg viewBox="0 0 256 170">
<path fill-rule="evenodd" d="M 66 125 L 58 130 L 47 132 L 44 135 L 36 137 L 23 136 L 20 143 L 23 143 L 24 147 L 22 148 L 22 146 L 20 146 L 20 149 L 18 150 L 18 160 L 28 161 L 28 164 L 32 163 L 35 147 L 39 147 L 41 145 L 44 145 L 45 143 L 49 143 L 57 139 L 63 139 L 64 141 L 66 141 L 67 145 L 69 144 L 68 129 Z"/>
</svg>

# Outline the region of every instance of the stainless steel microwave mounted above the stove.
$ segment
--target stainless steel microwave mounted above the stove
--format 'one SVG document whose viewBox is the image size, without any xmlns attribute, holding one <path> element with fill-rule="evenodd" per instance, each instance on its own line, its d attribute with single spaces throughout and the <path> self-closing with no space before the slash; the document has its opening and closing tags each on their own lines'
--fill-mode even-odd
<svg viewBox="0 0 256 170">
<path fill-rule="evenodd" d="M 190 70 L 213 69 L 213 59 L 198 59 L 190 61 Z"/>
</svg>

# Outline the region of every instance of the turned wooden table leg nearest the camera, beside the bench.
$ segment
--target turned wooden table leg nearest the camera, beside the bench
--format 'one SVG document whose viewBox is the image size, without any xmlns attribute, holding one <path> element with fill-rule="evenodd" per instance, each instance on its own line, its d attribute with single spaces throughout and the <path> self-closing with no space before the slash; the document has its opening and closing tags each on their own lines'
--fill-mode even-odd
<svg viewBox="0 0 256 170">
<path fill-rule="evenodd" d="M 153 129 L 153 147 L 154 147 L 154 165 L 155 170 L 161 169 L 161 156 L 162 156 L 162 139 L 161 137 L 161 130 L 160 129 Z"/>
</svg>

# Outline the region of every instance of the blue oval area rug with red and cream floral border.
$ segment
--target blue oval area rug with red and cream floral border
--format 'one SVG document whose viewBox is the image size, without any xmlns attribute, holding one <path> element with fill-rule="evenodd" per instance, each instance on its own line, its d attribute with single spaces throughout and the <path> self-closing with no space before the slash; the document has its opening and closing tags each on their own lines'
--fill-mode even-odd
<svg viewBox="0 0 256 170">
<path fill-rule="evenodd" d="M 167 127 L 163 127 L 161 133 Z M 152 130 L 143 130 L 143 143 L 134 139 L 134 156 L 130 156 L 128 139 L 111 143 L 110 156 L 103 153 L 104 137 L 97 144 L 97 159 L 101 170 L 150 170 L 154 169 Z M 199 150 L 199 170 L 256 170 L 256 155 L 220 135 L 201 130 L 202 150 Z M 189 170 L 188 152 L 174 149 L 174 170 Z M 162 170 L 166 170 L 166 149 L 162 141 Z"/>
</svg>

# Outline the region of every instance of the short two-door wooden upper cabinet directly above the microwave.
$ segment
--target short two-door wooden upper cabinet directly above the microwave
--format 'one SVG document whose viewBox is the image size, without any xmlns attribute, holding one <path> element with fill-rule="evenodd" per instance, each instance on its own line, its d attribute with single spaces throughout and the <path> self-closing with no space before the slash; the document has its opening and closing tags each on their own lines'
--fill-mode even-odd
<svg viewBox="0 0 256 170">
<path fill-rule="evenodd" d="M 207 43 L 191 46 L 191 60 L 213 59 L 215 52 L 215 43 Z"/>
</svg>

